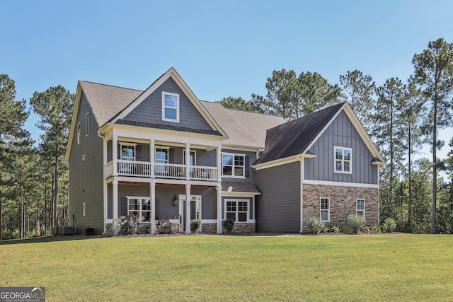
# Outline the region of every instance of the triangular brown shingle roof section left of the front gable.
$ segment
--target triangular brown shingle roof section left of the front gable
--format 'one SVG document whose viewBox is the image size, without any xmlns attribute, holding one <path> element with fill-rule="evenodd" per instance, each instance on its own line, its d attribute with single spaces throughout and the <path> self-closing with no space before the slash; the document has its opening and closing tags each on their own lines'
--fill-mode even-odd
<svg viewBox="0 0 453 302">
<path fill-rule="evenodd" d="M 79 81 L 79 83 L 99 127 L 132 103 L 143 92 L 87 81 Z"/>
</svg>

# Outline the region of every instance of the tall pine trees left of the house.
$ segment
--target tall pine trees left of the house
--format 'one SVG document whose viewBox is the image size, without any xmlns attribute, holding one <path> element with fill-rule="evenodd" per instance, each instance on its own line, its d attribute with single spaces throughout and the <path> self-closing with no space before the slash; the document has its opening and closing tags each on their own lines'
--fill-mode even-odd
<svg viewBox="0 0 453 302">
<path fill-rule="evenodd" d="M 63 156 L 74 94 L 55 86 L 28 100 L 40 117 L 38 145 L 24 128 L 26 103 L 16 100 L 13 79 L 0 74 L 0 240 L 50 235 L 69 222 Z"/>
</svg>

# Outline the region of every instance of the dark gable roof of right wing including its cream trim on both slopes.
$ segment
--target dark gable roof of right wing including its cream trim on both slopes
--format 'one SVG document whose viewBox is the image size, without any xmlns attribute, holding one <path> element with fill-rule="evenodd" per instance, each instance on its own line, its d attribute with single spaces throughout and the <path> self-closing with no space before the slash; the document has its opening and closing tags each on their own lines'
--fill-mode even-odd
<svg viewBox="0 0 453 302">
<path fill-rule="evenodd" d="M 298 155 L 313 156 L 313 154 L 309 154 L 307 151 L 342 110 L 345 110 L 345 113 L 350 118 L 352 124 L 354 124 L 354 127 L 357 129 L 369 151 L 373 154 L 374 158 L 377 158 L 377 161 L 374 161 L 374 163 L 384 163 L 384 159 L 376 146 L 374 146 L 355 113 L 352 112 L 350 105 L 345 102 L 268 129 L 266 149 L 254 165 L 263 165 L 264 163 Z M 297 158 L 293 159 L 297 160 Z"/>
</svg>

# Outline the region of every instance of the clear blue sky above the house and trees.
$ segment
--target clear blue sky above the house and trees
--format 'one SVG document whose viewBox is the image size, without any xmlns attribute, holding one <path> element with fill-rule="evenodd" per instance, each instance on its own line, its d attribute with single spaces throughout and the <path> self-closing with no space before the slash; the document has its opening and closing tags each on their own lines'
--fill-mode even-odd
<svg viewBox="0 0 453 302">
<path fill-rule="evenodd" d="M 171 66 L 212 101 L 265 95 L 283 68 L 331 83 L 359 69 L 382 85 L 406 81 L 429 41 L 453 42 L 450 0 L 0 2 L 0 74 L 27 100 L 78 80 L 145 89 Z"/>
</svg>

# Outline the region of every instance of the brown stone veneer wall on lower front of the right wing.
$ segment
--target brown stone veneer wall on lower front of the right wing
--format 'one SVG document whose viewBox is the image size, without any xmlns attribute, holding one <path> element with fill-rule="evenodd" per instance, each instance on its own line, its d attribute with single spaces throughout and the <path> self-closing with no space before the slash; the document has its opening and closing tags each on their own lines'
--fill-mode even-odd
<svg viewBox="0 0 453 302">
<path fill-rule="evenodd" d="M 333 185 L 303 185 L 304 190 L 304 231 L 309 231 L 310 216 L 319 218 L 320 198 L 330 198 L 330 221 L 327 227 L 344 227 L 349 214 L 357 210 L 356 199 L 365 199 L 367 226 L 379 225 L 379 189 L 369 187 L 343 187 Z"/>
</svg>

